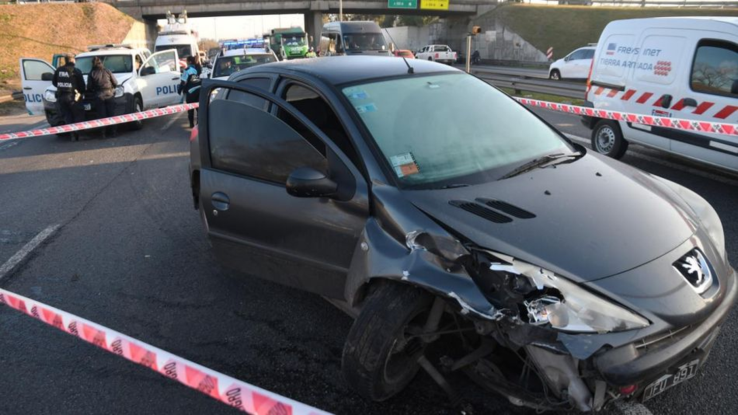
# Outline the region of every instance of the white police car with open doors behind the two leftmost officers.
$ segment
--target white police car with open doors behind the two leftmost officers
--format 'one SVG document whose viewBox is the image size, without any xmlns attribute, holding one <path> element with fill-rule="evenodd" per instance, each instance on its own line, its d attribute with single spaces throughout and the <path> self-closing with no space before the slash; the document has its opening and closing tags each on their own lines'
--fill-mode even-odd
<svg viewBox="0 0 738 415">
<path fill-rule="evenodd" d="M 76 67 L 84 75 L 92 69 L 92 59 L 98 57 L 118 81 L 115 89 L 115 114 L 128 114 L 144 109 L 177 104 L 180 95 L 179 56 L 176 49 L 162 50 L 153 55 L 148 49 L 127 45 L 106 44 L 88 47 L 75 57 Z M 52 86 L 54 67 L 37 58 L 21 58 L 21 82 L 29 114 L 46 114 L 51 126 L 63 124 L 56 109 L 56 88 Z M 81 102 L 88 120 L 97 118 L 92 94 Z M 141 128 L 142 122 L 131 123 Z"/>
</svg>

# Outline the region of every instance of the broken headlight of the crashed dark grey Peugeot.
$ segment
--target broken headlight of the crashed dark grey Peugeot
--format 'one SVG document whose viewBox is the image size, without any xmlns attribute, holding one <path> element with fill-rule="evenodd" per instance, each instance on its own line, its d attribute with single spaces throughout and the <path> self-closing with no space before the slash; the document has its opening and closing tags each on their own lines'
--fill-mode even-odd
<svg viewBox="0 0 738 415">
<path fill-rule="evenodd" d="M 495 255 L 497 257 L 505 255 Z M 566 332 L 622 332 L 641 329 L 649 321 L 595 295 L 554 272 L 507 257 L 508 264 L 493 263 L 490 270 L 517 274 L 533 288 L 523 306 L 531 324 L 551 324 Z"/>
</svg>

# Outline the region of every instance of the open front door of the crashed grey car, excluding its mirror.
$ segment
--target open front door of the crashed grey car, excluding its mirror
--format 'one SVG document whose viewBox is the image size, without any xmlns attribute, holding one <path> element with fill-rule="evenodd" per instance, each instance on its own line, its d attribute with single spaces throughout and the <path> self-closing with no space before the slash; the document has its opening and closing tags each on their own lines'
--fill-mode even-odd
<svg viewBox="0 0 738 415">
<path fill-rule="evenodd" d="M 368 218 L 367 185 L 348 157 L 294 106 L 243 83 L 207 81 L 199 119 L 199 196 L 218 259 L 342 299 Z M 286 179 L 300 167 L 338 182 L 337 196 L 289 195 Z"/>
</svg>

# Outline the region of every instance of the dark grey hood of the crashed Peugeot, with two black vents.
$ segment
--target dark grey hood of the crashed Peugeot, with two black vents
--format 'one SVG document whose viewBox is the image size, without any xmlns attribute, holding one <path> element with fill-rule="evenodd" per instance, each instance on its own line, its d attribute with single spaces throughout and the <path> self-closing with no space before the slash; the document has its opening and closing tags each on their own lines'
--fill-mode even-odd
<svg viewBox="0 0 738 415">
<path fill-rule="evenodd" d="M 689 239 L 698 223 L 662 182 L 599 154 L 497 182 L 404 193 L 480 247 L 578 282 L 652 261 Z M 487 199 L 504 204 L 490 210 Z"/>
</svg>

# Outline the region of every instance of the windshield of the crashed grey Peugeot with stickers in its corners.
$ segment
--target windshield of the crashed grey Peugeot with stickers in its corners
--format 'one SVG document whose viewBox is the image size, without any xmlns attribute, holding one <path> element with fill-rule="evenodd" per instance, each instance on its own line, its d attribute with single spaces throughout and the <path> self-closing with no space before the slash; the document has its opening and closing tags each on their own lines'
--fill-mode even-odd
<svg viewBox="0 0 738 415">
<path fill-rule="evenodd" d="M 489 182 L 537 157 L 572 151 L 523 106 L 466 74 L 415 75 L 342 92 L 405 188 Z"/>
</svg>

